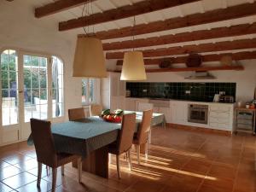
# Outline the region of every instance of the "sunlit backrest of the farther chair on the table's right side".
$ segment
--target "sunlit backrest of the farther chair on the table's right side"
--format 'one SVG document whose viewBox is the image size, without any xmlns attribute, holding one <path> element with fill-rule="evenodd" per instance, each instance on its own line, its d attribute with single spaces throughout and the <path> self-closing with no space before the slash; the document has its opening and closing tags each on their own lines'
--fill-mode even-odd
<svg viewBox="0 0 256 192">
<path fill-rule="evenodd" d="M 152 119 L 153 110 L 143 111 L 143 120 L 137 131 L 138 143 L 147 143 L 148 141 L 148 132 L 150 131 L 151 119 Z"/>
</svg>

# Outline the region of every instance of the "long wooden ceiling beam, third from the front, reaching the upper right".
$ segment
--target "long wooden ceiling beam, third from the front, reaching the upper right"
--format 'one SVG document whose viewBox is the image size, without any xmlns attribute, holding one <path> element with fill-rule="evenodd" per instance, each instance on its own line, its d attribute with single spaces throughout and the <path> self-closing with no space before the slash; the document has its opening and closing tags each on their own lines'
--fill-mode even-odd
<svg viewBox="0 0 256 192">
<path fill-rule="evenodd" d="M 168 20 L 154 21 L 135 27 L 128 26 L 105 32 L 96 32 L 96 37 L 101 39 L 124 38 L 134 35 L 142 35 L 150 32 L 161 32 L 187 26 L 197 26 L 222 20 L 233 20 L 250 15 L 256 15 L 256 2 L 236 5 L 227 9 L 216 9 L 202 14 L 187 15 Z"/>
</svg>

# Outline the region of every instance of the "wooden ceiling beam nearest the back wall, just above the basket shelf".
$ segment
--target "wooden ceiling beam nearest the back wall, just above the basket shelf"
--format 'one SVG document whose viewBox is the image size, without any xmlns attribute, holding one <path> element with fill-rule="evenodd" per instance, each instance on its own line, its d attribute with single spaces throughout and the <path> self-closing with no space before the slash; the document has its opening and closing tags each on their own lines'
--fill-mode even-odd
<svg viewBox="0 0 256 192">
<path fill-rule="evenodd" d="M 256 51 L 244 51 L 244 52 L 237 52 L 237 53 L 202 55 L 202 62 L 220 61 L 224 55 L 230 55 L 233 61 L 256 59 Z M 189 56 L 144 59 L 144 64 L 159 65 L 161 61 L 171 61 L 172 64 L 183 64 L 188 60 L 188 58 Z M 122 66 L 123 60 L 118 60 L 116 65 Z"/>
</svg>

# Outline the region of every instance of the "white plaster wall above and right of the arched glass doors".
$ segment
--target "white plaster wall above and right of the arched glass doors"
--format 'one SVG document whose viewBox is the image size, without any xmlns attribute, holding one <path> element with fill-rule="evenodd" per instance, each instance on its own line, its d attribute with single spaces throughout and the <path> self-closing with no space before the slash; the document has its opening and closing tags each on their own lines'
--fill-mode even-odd
<svg viewBox="0 0 256 192">
<path fill-rule="evenodd" d="M 27 49 L 61 57 L 67 119 L 67 108 L 81 106 L 81 79 L 72 78 L 76 35 L 58 32 L 55 20 L 36 19 L 30 1 L 0 1 L 0 49 Z"/>
</svg>

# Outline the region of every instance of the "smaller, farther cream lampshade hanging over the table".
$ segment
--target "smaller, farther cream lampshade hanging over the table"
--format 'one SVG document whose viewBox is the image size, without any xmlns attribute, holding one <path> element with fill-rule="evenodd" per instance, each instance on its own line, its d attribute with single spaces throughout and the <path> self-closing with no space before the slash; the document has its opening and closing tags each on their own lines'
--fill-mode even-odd
<svg viewBox="0 0 256 192">
<path fill-rule="evenodd" d="M 146 80 L 143 52 L 130 51 L 125 53 L 121 80 Z"/>
</svg>

